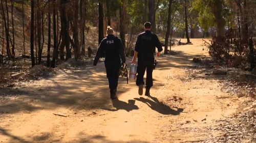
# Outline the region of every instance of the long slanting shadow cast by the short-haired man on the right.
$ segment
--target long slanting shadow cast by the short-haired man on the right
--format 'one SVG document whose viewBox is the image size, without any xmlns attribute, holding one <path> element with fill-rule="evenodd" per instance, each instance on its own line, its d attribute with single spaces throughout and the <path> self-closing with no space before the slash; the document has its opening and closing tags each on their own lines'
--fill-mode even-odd
<svg viewBox="0 0 256 143">
<path fill-rule="evenodd" d="M 177 108 L 177 110 L 174 110 L 168 105 L 159 102 L 156 97 L 150 96 L 149 98 L 150 99 L 145 99 L 143 97 L 140 97 L 134 99 L 147 104 L 147 106 L 150 107 L 152 110 L 155 110 L 163 115 L 180 115 L 180 113 L 184 110 L 183 108 Z"/>
</svg>

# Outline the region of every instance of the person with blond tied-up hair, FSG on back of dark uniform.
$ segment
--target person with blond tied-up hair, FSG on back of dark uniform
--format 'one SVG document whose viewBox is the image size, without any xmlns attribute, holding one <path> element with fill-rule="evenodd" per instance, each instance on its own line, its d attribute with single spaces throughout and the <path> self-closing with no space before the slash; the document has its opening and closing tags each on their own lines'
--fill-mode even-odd
<svg viewBox="0 0 256 143">
<path fill-rule="evenodd" d="M 110 98 L 116 99 L 119 69 L 121 67 L 120 59 L 122 60 L 122 64 L 125 64 L 126 60 L 123 44 L 118 37 L 114 36 L 113 28 L 108 27 L 106 33 L 108 36 L 100 42 L 93 65 L 96 66 L 99 58 L 105 57 L 104 64 L 106 77 L 109 79 Z"/>
</svg>

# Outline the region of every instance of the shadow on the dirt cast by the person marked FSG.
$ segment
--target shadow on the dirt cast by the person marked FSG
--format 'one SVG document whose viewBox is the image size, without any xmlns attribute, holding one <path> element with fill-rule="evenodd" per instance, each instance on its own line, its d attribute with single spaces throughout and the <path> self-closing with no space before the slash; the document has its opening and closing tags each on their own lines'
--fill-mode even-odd
<svg viewBox="0 0 256 143">
<path fill-rule="evenodd" d="M 104 110 L 109 111 L 118 111 L 118 110 L 126 110 L 127 112 L 131 110 L 137 110 L 139 107 L 135 105 L 135 100 L 128 100 L 128 103 L 121 101 L 119 99 L 112 100 L 113 107 L 116 109 L 110 109 L 110 108 L 102 108 Z"/>
</svg>

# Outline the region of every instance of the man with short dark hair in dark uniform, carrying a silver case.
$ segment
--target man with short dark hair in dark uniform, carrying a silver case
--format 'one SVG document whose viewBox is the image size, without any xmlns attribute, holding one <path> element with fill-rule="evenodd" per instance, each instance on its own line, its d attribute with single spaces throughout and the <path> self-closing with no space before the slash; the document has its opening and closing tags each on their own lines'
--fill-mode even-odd
<svg viewBox="0 0 256 143">
<path fill-rule="evenodd" d="M 151 32 L 151 23 L 144 23 L 144 32 L 139 34 L 137 37 L 137 41 L 135 44 L 135 53 L 133 56 L 132 63 L 136 64 L 136 59 L 138 57 L 138 66 L 137 66 L 137 77 L 136 77 L 136 85 L 139 86 L 139 95 L 143 94 L 143 76 L 146 70 L 146 91 L 145 96 L 150 96 L 150 89 L 153 86 L 153 77 L 152 72 L 154 68 L 154 53 L 156 51 L 156 47 L 158 52 L 157 56 L 160 55 L 160 52 L 163 50 L 162 45 L 156 34 Z"/>
</svg>

